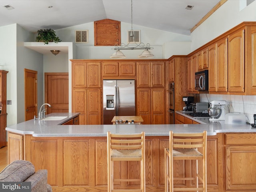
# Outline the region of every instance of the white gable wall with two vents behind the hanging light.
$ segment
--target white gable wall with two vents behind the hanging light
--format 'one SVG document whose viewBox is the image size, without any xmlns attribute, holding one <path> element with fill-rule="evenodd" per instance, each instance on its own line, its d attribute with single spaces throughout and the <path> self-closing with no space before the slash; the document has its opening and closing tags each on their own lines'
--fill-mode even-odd
<svg viewBox="0 0 256 192">
<path fill-rule="evenodd" d="M 130 29 L 131 24 L 121 22 L 121 42 L 124 44 L 128 43 L 127 30 Z M 133 25 L 133 29 L 140 30 L 141 42 L 144 44 L 150 43 L 150 46 L 154 48 L 150 50 L 155 56 L 154 59 L 167 59 L 174 54 L 184 54 L 184 50 L 190 50 L 190 44 L 184 44 L 184 42 L 190 42 L 190 36 L 136 25 Z M 75 30 L 88 30 L 88 43 L 75 43 Z M 56 30 L 56 35 L 62 42 L 75 43 L 77 59 L 110 59 L 114 52 L 114 50 L 111 50 L 114 46 L 94 46 L 94 22 Z M 166 46 L 166 43 L 169 42 L 176 43 L 173 46 L 171 44 Z M 177 50 L 180 50 L 180 52 Z M 142 50 L 122 50 L 122 52 L 126 55 L 126 59 L 139 59 L 138 56 L 142 53 Z"/>
</svg>

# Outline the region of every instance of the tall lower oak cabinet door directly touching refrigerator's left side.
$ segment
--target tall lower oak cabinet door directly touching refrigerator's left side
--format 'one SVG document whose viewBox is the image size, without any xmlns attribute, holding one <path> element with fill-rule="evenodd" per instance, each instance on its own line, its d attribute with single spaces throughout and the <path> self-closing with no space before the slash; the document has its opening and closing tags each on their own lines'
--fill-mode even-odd
<svg viewBox="0 0 256 192">
<path fill-rule="evenodd" d="M 101 91 L 100 89 L 87 90 L 87 117 L 89 125 L 101 124 Z"/>
</svg>

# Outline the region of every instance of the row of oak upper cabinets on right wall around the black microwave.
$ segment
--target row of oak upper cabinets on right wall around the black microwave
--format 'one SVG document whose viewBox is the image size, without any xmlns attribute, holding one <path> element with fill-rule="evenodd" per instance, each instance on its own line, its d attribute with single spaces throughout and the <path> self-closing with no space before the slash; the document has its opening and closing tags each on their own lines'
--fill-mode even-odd
<svg viewBox="0 0 256 192">
<path fill-rule="evenodd" d="M 256 22 L 242 22 L 195 52 L 197 70 L 209 70 L 209 93 L 256 95 Z M 188 58 L 191 80 L 194 55 Z M 192 88 L 188 80 L 188 91 Z"/>
</svg>

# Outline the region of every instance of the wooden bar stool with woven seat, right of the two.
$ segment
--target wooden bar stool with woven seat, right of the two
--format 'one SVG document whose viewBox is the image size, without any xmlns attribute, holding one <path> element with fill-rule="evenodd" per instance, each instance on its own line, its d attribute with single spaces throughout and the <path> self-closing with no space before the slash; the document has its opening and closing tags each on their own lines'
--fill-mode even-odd
<svg viewBox="0 0 256 192">
<path fill-rule="evenodd" d="M 165 192 L 168 192 L 168 182 L 169 191 L 207 191 L 207 174 L 206 174 L 206 140 L 207 132 L 203 133 L 190 133 L 190 134 L 178 134 L 170 131 L 169 136 L 169 148 L 164 149 L 164 175 L 165 175 Z M 198 148 L 202 148 L 202 152 L 198 151 Z M 174 178 L 173 164 L 174 160 L 184 160 L 184 170 L 185 170 L 185 160 L 195 160 L 195 168 L 193 169 L 192 161 L 191 165 L 191 175 L 189 173 L 183 173 L 184 177 Z M 198 160 L 202 160 L 202 175 L 198 174 Z M 192 176 L 192 170 L 195 170 L 195 175 Z M 198 179 L 202 182 L 202 187 L 198 187 Z M 180 185 L 179 188 L 174 188 L 174 180 L 184 180 L 184 185 Z M 191 180 L 190 183 L 185 181 Z M 194 184 L 192 184 L 194 180 Z M 193 187 L 194 185 L 194 187 Z"/>
</svg>

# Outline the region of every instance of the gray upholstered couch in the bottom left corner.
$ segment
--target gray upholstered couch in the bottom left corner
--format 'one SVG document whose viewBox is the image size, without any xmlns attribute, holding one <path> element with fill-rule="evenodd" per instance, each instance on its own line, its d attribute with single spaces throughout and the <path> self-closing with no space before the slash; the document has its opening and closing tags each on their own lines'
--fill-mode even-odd
<svg viewBox="0 0 256 192">
<path fill-rule="evenodd" d="M 29 161 L 16 160 L 0 172 L 0 182 L 31 182 L 31 192 L 52 192 L 47 184 L 47 170 L 35 172 Z"/>
</svg>

